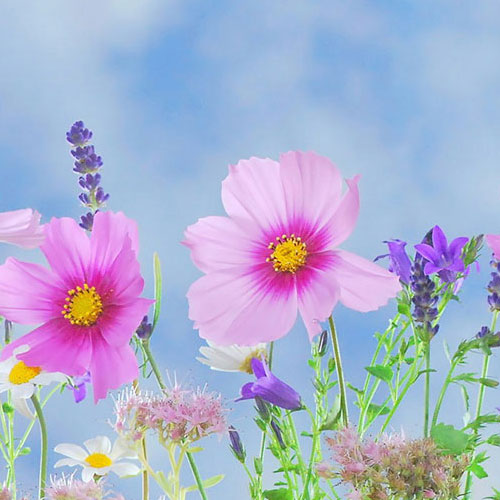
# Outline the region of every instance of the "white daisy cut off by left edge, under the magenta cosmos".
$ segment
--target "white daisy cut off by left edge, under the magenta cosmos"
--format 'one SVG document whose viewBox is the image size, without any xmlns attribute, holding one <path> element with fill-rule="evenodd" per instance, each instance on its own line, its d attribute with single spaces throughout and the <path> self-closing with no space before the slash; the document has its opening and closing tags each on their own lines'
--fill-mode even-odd
<svg viewBox="0 0 500 500">
<path fill-rule="evenodd" d="M 34 418 L 26 400 L 33 396 L 36 386 L 66 382 L 67 377 L 62 373 L 46 372 L 39 366 L 27 366 L 18 360 L 17 355 L 28 349 L 28 346 L 20 346 L 10 358 L 0 362 L 0 393 L 11 391 L 14 408 L 28 418 Z"/>
</svg>

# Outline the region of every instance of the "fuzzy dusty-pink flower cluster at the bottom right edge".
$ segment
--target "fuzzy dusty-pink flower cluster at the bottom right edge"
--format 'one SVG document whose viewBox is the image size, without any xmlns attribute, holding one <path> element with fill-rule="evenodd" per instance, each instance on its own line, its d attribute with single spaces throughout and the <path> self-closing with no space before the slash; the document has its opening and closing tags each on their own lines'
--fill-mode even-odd
<svg viewBox="0 0 500 500">
<path fill-rule="evenodd" d="M 347 498 L 435 498 L 460 493 L 467 455 L 445 455 L 431 439 L 408 440 L 402 435 L 361 441 L 352 427 L 327 438 L 334 463 L 317 464 L 321 477 L 340 477 L 352 491 Z"/>
</svg>

